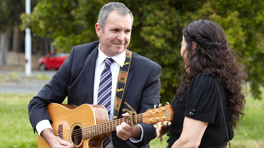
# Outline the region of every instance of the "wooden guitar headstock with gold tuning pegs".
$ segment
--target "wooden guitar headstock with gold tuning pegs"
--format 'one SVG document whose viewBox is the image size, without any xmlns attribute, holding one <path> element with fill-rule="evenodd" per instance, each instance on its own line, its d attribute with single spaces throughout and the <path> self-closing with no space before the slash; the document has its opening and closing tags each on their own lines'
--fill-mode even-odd
<svg viewBox="0 0 264 148">
<path fill-rule="evenodd" d="M 156 108 L 156 105 L 154 105 L 154 109 L 148 109 L 145 113 L 142 113 L 142 122 L 148 124 L 155 123 L 154 127 L 157 128 L 157 122 L 162 122 L 163 124 L 163 121 L 169 121 L 167 124 L 170 125 L 172 116 L 172 107 L 168 102 L 166 102 L 165 106 L 162 106 L 162 104 L 160 104 L 159 108 Z"/>
</svg>

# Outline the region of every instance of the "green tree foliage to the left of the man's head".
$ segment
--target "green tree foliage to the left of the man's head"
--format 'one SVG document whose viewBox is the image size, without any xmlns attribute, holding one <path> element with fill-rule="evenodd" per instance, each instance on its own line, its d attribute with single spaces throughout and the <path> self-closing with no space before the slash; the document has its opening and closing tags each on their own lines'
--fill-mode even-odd
<svg viewBox="0 0 264 148">
<path fill-rule="evenodd" d="M 31 28 L 34 36 L 54 39 L 56 49 L 70 51 L 73 46 L 97 40 L 95 23 L 103 1 L 43 0 L 31 15 L 21 15 L 21 29 Z"/>
</svg>

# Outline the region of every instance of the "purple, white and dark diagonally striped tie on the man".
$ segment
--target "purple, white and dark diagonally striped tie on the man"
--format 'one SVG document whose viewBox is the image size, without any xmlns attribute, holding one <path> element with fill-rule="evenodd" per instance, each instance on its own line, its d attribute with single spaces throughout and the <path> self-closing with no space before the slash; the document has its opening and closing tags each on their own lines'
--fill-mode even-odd
<svg viewBox="0 0 264 148">
<path fill-rule="evenodd" d="M 103 105 L 108 113 L 110 119 L 110 105 L 111 105 L 111 91 L 112 91 L 112 74 L 110 65 L 114 62 L 112 58 L 106 58 L 104 70 L 100 77 L 100 83 L 98 88 L 97 104 Z M 110 141 L 110 137 L 105 139 L 103 147 L 105 147 Z"/>
</svg>

